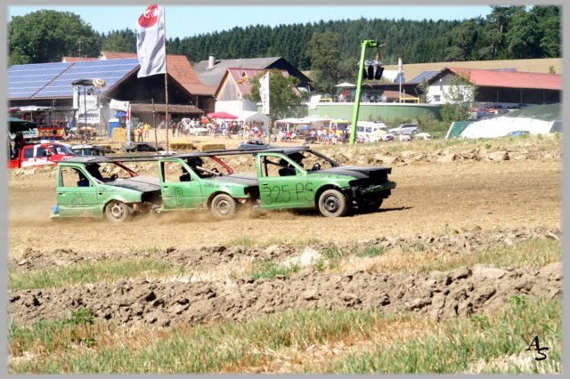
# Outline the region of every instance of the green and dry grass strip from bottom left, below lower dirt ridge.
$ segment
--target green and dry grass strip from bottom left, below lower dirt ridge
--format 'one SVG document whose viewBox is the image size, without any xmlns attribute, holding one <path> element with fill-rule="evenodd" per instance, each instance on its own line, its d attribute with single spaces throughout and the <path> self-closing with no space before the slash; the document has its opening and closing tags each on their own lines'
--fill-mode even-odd
<svg viewBox="0 0 570 379">
<path fill-rule="evenodd" d="M 272 351 L 307 349 L 314 343 L 328 343 L 354 333 L 365 339 L 375 324 L 388 319 L 391 317 L 374 311 L 289 310 L 245 323 L 177 327 L 150 346 L 136 350 L 95 344 L 93 351 L 77 354 L 77 350 L 64 349 L 60 343 L 57 353 L 51 351 L 24 363 L 12 362 L 10 370 L 13 373 L 247 372 L 249 367 L 264 362 Z M 52 327 L 57 330 L 61 325 L 53 323 Z M 38 332 L 37 327 L 32 331 L 35 335 L 28 335 L 28 341 L 36 340 L 43 345 L 54 338 L 53 334 Z M 11 351 L 16 350 L 12 345 L 22 345 L 20 335 L 11 334 Z M 98 341 L 97 336 L 90 337 Z"/>
</svg>

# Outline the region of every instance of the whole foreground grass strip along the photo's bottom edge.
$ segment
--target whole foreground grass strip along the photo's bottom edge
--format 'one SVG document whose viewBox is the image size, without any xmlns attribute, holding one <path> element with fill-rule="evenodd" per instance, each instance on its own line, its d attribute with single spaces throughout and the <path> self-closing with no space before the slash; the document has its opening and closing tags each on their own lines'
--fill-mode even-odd
<svg viewBox="0 0 570 379">
<path fill-rule="evenodd" d="M 514 297 L 506 309 L 496 314 L 452 319 L 419 331 L 414 329 L 412 333 L 401 330 L 406 325 L 403 320 L 413 329 L 416 323 L 411 315 L 289 310 L 244 323 L 176 327 L 157 337 L 154 343 L 132 342 L 136 349 L 128 345 L 100 346 L 101 336 L 89 335 L 94 341 L 90 351 L 77 352 L 60 343 L 56 353 L 27 362 L 12 360 L 9 368 L 13 373 L 41 374 L 246 373 L 272 371 L 273 364 L 292 357 L 299 365 L 291 372 L 559 372 L 560 308 L 559 300 Z M 383 335 L 379 337 L 379 333 Z M 397 336 L 392 338 L 394 335 Z M 548 359 L 542 362 L 533 360 L 537 356 L 535 351 L 526 351 L 535 335 L 542 346 L 549 347 Z M 19 338 L 11 333 L 11 351 L 12 346 L 20 343 Z M 45 336 L 29 335 L 28 341 L 47 343 L 42 338 Z M 379 340 L 384 343 L 375 343 Z M 306 352 L 315 346 L 318 349 L 355 342 L 365 343 L 367 349 L 346 353 L 341 359 L 325 357 L 318 365 L 314 365 L 314 357 Z M 370 346 L 373 347 L 368 349 Z M 506 366 L 496 363 L 513 355 L 522 357 L 522 363 L 516 361 Z"/>
</svg>

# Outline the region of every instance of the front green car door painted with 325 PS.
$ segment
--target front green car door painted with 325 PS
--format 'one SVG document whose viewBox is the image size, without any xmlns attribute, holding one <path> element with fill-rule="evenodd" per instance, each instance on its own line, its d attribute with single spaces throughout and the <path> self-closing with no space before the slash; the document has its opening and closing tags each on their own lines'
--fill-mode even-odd
<svg viewBox="0 0 570 379">
<path fill-rule="evenodd" d="M 269 153 L 257 155 L 262 208 L 313 207 L 314 191 L 308 177 L 305 169 L 289 157 Z"/>
</svg>

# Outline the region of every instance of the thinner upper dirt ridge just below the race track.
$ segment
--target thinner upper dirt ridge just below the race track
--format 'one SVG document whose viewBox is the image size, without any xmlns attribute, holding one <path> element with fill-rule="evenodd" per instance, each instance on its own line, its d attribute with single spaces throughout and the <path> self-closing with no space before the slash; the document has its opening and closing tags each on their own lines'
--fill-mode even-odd
<svg viewBox="0 0 570 379">
<path fill-rule="evenodd" d="M 359 246 L 381 247 L 386 253 L 406 246 L 411 251 L 436 252 L 441 255 L 454 255 L 470 251 L 484 250 L 493 246 L 512 245 L 533 238 L 555 238 L 559 240 L 560 230 L 545 228 L 515 228 L 509 230 L 468 230 L 439 236 L 421 236 L 413 238 L 381 237 L 347 242 L 344 244 L 318 244 L 309 246 L 317 252 L 331 246 L 351 251 Z M 190 267 L 193 270 L 208 269 L 223 263 L 248 258 L 250 261 L 283 261 L 291 256 L 300 256 L 307 246 L 201 246 L 198 248 L 167 247 L 161 251 L 134 252 L 77 252 L 70 248 L 58 248 L 43 251 L 28 247 L 22 257 L 10 260 L 10 270 L 45 270 L 53 266 L 65 266 L 78 262 L 119 261 L 122 259 L 162 260 L 177 266 Z"/>
</svg>

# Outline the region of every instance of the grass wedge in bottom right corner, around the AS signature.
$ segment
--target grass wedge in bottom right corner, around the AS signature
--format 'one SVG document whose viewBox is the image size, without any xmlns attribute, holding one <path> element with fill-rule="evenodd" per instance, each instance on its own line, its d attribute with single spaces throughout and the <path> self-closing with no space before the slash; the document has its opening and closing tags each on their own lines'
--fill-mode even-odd
<svg viewBox="0 0 570 379">
<path fill-rule="evenodd" d="M 394 341 L 317 366 L 314 373 L 554 373 L 561 368 L 561 303 L 515 296 L 507 309 L 443 323 L 433 335 Z M 547 359 L 527 351 L 533 338 L 548 347 Z M 517 359 L 504 359 L 504 357 Z M 483 364 L 482 364 L 483 363 Z M 474 367 L 478 367 L 474 369 Z"/>
</svg>

